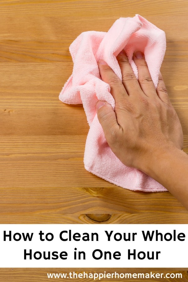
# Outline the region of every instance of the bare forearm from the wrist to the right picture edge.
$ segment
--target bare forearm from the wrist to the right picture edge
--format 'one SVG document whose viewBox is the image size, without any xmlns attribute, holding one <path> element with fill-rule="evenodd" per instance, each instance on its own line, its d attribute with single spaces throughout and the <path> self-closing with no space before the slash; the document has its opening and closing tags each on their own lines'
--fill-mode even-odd
<svg viewBox="0 0 188 282">
<path fill-rule="evenodd" d="M 145 172 L 162 184 L 188 209 L 188 155 L 173 147 L 153 155 Z"/>
</svg>

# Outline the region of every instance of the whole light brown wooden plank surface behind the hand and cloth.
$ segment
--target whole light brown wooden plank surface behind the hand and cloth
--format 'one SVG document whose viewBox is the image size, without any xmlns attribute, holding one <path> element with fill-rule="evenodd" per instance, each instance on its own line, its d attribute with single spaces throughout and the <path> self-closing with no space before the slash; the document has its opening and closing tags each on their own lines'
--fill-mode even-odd
<svg viewBox="0 0 188 282">
<path fill-rule="evenodd" d="M 133 192 L 87 172 L 84 110 L 58 99 L 72 72 L 71 42 L 136 13 L 166 33 L 161 72 L 188 153 L 187 0 L 0 1 L 0 223 L 188 223 L 169 192 Z M 71 270 L 0 269 L 0 281 L 46 281 L 47 272 Z M 153 271 L 182 272 L 178 281 L 188 281 L 186 269 Z"/>
</svg>

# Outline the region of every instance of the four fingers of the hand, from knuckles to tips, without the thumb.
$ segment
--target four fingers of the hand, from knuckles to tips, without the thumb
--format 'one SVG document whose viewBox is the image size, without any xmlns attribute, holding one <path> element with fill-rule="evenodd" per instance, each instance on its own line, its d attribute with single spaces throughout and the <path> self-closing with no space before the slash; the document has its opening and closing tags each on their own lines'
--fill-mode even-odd
<svg viewBox="0 0 188 282">
<path fill-rule="evenodd" d="M 133 55 L 133 60 L 138 69 L 138 81 L 124 50 L 117 56 L 117 60 L 122 72 L 122 82 L 105 61 L 100 60 L 98 62 L 101 78 L 110 85 L 111 94 L 116 102 L 121 102 L 128 96 L 146 95 L 147 97 L 159 97 L 163 102 L 170 103 L 161 74 L 159 75 L 158 87 L 155 89 L 142 52 L 136 51 Z"/>
</svg>

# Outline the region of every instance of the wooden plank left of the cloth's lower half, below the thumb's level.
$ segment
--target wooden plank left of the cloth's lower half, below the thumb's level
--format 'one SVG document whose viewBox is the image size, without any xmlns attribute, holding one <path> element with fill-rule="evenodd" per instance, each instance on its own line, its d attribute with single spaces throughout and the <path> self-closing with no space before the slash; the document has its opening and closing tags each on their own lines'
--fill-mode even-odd
<svg viewBox="0 0 188 282">
<path fill-rule="evenodd" d="M 85 140 L 85 136 L 0 137 L 0 187 L 119 189 L 85 170 Z"/>
</svg>

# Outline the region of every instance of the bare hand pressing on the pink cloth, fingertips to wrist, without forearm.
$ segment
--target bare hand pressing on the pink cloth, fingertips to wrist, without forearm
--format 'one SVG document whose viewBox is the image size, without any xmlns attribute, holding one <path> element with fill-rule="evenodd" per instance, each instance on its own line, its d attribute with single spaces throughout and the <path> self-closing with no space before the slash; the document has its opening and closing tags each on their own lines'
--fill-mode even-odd
<svg viewBox="0 0 188 282">
<path fill-rule="evenodd" d="M 147 173 L 149 160 L 154 153 L 155 157 L 160 154 L 161 148 L 182 149 L 182 128 L 161 74 L 155 89 L 144 55 L 139 51 L 133 55 L 138 80 L 124 52 L 117 60 L 123 81 L 103 60 L 98 62 L 101 78 L 110 85 L 115 100 L 115 111 L 107 102 L 97 102 L 98 120 L 108 145 L 121 162 Z"/>
</svg>

